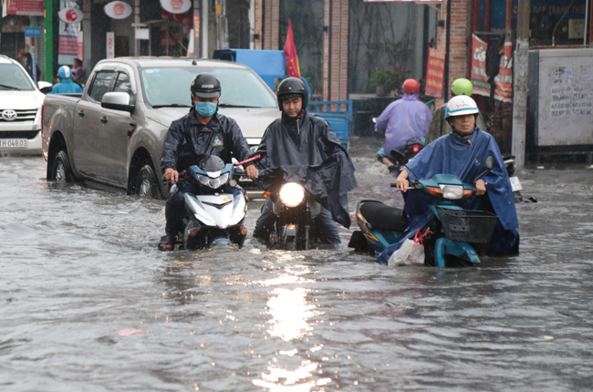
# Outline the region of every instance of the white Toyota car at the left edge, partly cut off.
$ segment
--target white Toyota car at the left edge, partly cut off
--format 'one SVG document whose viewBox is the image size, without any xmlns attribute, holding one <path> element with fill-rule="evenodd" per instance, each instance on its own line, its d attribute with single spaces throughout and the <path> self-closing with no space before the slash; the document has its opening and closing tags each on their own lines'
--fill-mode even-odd
<svg viewBox="0 0 593 392">
<path fill-rule="evenodd" d="M 40 81 L 39 88 L 51 87 Z M 0 155 L 41 155 L 41 105 L 46 96 L 18 61 L 0 55 Z"/>
</svg>

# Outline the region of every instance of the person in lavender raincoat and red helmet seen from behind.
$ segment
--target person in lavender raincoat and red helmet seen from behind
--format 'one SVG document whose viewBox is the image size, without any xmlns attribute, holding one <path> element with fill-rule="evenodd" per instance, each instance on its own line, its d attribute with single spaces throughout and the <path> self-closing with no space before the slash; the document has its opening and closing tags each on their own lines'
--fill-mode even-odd
<svg viewBox="0 0 593 392">
<path fill-rule="evenodd" d="M 424 137 L 432 119 L 431 110 L 418 100 L 418 81 L 406 79 L 401 88 L 403 98 L 390 103 L 377 119 L 375 126 L 376 132 L 385 134 L 385 144 L 377 153 L 377 158 L 387 165 L 391 172 L 397 172 L 399 166 L 394 165 L 389 155 L 390 151 L 400 150 L 409 139 Z"/>
</svg>

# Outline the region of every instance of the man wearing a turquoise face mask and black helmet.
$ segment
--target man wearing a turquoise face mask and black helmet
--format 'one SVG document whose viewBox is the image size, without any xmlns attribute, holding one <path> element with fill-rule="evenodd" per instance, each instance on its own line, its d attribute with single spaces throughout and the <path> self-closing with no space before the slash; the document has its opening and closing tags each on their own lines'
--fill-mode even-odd
<svg viewBox="0 0 593 392">
<path fill-rule="evenodd" d="M 166 181 L 173 184 L 179 180 L 179 171 L 187 170 L 205 156 L 215 155 L 232 163 L 232 158 L 246 160 L 251 151 L 241 129 L 234 121 L 218 113 L 218 99 L 221 96 L 220 81 L 213 74 L 203 72 L 193 77 L 192 108 L 181 119 L 171 123 L 162 143 L 161 171 Z M 249 179 L 257 178 L 257 169 L 253 164 L 245 167 Z M 185 213 L 184 195 L 196 191 L 178 183 L 172 191 L 165 207 L 166 235 L 161 237 L 159 249 L 170 251 L 176 242 L 176 234 L 183 229 Z M 239 186 L 227 185 L 222 192 L 234 194 L 241 190 Z"/>
</svg>

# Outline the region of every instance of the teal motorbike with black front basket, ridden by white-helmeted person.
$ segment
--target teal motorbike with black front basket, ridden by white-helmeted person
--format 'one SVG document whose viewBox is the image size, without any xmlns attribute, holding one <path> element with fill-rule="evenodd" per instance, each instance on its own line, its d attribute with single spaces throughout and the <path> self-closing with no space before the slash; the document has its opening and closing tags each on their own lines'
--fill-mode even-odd
<svg viewBox="0 0 593 392">
<path fill-rule="evenodd" d="M 408 160 L 401 152 L 391 151 L 391 156 L 408 168 Z M 492 170 L 493 164 L 493 158 L 489 157 L 484 163 L 484 171 L 473 183 Z M 392 183 L 391 187 L 397 185 Z M 422 232 L 430 231 L 423 240 L 424 263 L 439 267 L 480 263 L 474 246 L 481 250 L 490 241 L 498 217 L 488 211 L 463 210 L 455 204 L 455 201 L 473 197 L 475 187 L 457 176 L 436 174 L 429 180 L 411 181 L 409 191 L 431 198 L 432 220 L 422 229 Z M 353 233 L 349 247 L 364 253 L 382 253 L 390 244 L 400 242 L 409 226 L 401 209 L 381 201 L 359 201 L 356 220 L 360 231 Z"/>
</svg>

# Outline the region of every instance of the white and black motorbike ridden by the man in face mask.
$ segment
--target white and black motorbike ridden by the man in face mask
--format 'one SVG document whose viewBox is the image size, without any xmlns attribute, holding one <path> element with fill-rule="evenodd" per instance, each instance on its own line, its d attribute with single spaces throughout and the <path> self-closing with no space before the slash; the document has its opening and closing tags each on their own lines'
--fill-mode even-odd
<svg viewBox="0 0 593 392">
<path fill-rule="evenodd" d="M 247 234 L 245 196 L 239 190 L 233 194 L 223 191 L 236 185 L 234 177 L 245 175 L 237 166 L 261 159 L 263 154 L 257 153 L 248 160 L 225 164 L 219 157 L 207 156 L 180 173 L 179 181 L 200 193 L 185 193 L 184 230 L 177 235 L 184 249 L 208 249 L 233 243 L 239 248 L 243 246 Z"/>
</svg>

